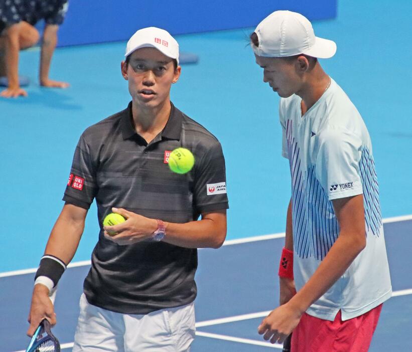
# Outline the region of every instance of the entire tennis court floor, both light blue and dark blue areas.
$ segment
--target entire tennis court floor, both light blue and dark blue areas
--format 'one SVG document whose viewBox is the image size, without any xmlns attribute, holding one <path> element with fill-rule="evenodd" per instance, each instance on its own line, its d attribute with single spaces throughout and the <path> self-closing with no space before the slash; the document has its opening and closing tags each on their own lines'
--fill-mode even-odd
<svg viewBox="0 0 412 352">
<path fill-rule="evenodd" d="M 384 304 L 372 352 L 412 350 L 412 71 L 404 63 L 412 53 L 412 41 L 407 40 L 410 13 L 412 3 L 406 0 L 390 6 L 382 0 L 348 0 L 339 3 L 335 20 L 314 23 L 317 35 L 337 42 L 336 56 L 321 64 L 366 122 L 387 219 L 395 296 Z M 283 238 L 230 242 L 282 233 L 290 198 L 289 166 L 281 157 L 279 98 L 263 84 L 261 69 L 247 47 L 251 30 L 177 37 L 181 50 L 199 55 L 199 63 L 183 66 L 172 100 L 221 141 L 230 205 L 229 242 L 219 250 L 199 251 L 194 352 L 279 347 L 265 343 L 256 329 L 278 302 L 276 271 Z M 120 75 L 124 47 L 121 42 L 57 49 L 51 77 L 68 81 L 66 90 L 38 86 L 39 50 L 27 50 L 21 55 L 20 72 L 30 78 L 29 97 L 0 100 L 0 352 L 22 350 L 29 341 L 25 332 L 34 273 L 15 271 L 39 263 L 63 206 L 61 197 L 81 132 L 129 101 Z M 97 228 L 93 205 L 74 263 L 89 260 Z M 87 264 L 71 267 L 59 284 L 54 331 L 67 347 L 64 351 L 71 350 L 87 271 Z"/>
</svg>

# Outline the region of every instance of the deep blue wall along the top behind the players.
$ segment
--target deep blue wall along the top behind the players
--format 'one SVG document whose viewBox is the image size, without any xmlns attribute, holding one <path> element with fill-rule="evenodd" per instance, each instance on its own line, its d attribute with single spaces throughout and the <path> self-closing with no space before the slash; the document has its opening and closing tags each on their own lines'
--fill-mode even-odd
<svg viewBox="0 0 412 352">
<path fill-rule="evenodd" d="M 123 41 L 149 26 L 173 35 L 253 27 L 276 10 L 324 20 L 336 17 L 336 7 L 337 0 L 69 0 L 59 46 Z"/>
</svg>

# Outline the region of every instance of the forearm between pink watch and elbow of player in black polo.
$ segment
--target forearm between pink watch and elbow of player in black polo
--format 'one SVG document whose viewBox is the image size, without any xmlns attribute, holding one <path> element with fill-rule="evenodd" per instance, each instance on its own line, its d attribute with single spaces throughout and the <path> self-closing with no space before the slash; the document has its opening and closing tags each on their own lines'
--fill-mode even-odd
<svg viewBox="0 0 412 352">
<path fill-rule="evenodd" d="M 164 242 L 185 248 L 219 248 L 226 238 L 226 212 L 185 224 L 165 223 Z"/>
</svg>

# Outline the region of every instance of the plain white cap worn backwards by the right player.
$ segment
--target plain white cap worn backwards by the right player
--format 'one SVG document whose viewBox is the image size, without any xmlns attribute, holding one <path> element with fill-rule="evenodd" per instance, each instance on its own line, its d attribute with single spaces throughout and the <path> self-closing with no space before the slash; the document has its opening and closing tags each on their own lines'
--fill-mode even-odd
<svg viewBox="0 0 412 352">
<path fill-rule="evenodd" d="M 255 31 L 259 46 L 254 53 L 264 57 L 286 57 L 305 54 L 328 59 L 336 53 L 336 43 L 315 37 L 309 20 L 291 11 L 275 11 L 260 22 Z"/>
</svg>

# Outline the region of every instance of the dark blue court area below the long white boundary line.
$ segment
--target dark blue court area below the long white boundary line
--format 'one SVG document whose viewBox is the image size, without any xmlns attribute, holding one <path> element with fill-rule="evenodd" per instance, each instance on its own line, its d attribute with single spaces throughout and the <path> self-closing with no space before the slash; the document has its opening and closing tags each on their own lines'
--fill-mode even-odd
<svg viewBox="0 0 412 352">
<path fill-rule="evenodd" d="M 412 350 L 412 278 L 410 267 L 412 220 L 386 221 L 389 265 L 394 297 L 383 305 L 370 348 L 373 352 Z M 279 348 L 257 334 L 257 326 L 279 301 L 276 263 L 283 247 L 282 234 L 251 242 L 226 242 L 219 250 L 199 251 L 196 299 L 197 338 L 193 351 L 265 351 Z M 399 246 L 403 243 L 403 246 Z M 70 351 L 78 316 L 78 300 L 88 264 L 72 267 L 59 283 L 55 302 L 58 324 L 54 328 L 64 350 Z M 26 347 L 25 323 L 30 307 L 34 273 L 0 277 L 3 346 L 0 351 Z"/>
</svg>

